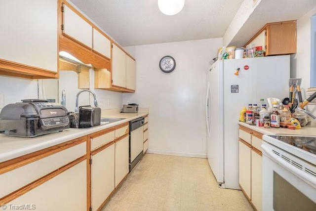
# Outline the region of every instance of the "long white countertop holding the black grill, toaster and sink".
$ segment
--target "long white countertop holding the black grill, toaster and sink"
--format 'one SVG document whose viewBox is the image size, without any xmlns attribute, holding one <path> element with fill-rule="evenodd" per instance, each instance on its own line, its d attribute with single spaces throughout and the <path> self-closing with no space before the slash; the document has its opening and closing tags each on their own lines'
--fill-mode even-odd
<svg viewBox="0 0 316 211">
<path fill-rule="evenodd" d="M 148 112 L 138 113 L 118 113 L 102 112 L 102 118 L 125 118 L 118 122 L 89 127 L 89 128 L 69 128 L 62 132 L 40 135 L 34 138 L 14 137 L 0 134 L 0 163 L 17 158 L 32 152 L 36 152 L 47 147 L 51 147 L 75 138 L 82 137 L 109 127 L 114 127 L 130 120 L 146 116 Z"/>
</svg>

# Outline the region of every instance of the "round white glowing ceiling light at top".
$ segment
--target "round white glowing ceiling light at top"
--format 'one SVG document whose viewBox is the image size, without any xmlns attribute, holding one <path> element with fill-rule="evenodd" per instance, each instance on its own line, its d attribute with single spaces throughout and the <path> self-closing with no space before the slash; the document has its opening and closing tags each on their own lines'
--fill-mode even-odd
<svg viewBox="0 0 316 211">
<path fill-rule="evenodd" d="M 184 6 L 184 0 L 158 0 L 158 7 L 165 15 L 178 14 Z"/>
</svg>

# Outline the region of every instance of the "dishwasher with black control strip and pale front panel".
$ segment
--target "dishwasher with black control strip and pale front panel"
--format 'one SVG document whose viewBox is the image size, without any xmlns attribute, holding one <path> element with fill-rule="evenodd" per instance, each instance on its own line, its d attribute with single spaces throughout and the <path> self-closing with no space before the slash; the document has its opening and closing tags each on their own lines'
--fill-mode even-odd
<svg viewBox="0 0 316 211">
<path fill-rule="evenodd" d="M 129 171 L 143 157 L 144 117 L 129 122 Z"/>
</svg>

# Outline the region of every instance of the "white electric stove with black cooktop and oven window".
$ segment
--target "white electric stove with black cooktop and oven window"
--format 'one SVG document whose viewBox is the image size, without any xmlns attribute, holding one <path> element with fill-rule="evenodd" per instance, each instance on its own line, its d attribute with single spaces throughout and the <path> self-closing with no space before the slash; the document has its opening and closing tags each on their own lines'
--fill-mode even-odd
<svg viewBox="0 0 316 211">
<path fill-rule="evenodd" d="M 316 210 L 316 136 L 263 136 L 263 210 Z"/>
</svg>

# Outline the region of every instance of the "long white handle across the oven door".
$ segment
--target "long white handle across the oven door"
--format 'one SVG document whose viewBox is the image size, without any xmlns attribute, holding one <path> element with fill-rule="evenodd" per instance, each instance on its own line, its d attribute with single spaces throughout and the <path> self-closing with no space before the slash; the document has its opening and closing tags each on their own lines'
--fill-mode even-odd
<svg viewBox="0 0 316 211">
<path fill-rule="evenodd" d="M 276 162 L 276 164 L 282 166 L 284 169 L 290 171 L 294 175 L 300 177 L 301 179 L 303 179 L 304 181 L 306 181 L 307 183 L 312 185 L 314 188 L 316 188 L 316 177 L 314 177 L 314 176 L 306 173 L 304 170 L 300 170 L 300 169 L 292 166 L 288 162 L 284 161 L 279 156 L 274 154 L 271 149 L 269 150 L 269 148 L 267 148 L 265 145 L 262 145 L 261 147 L 263 150 L 263 154 L 268 156 L 270 159 L 272 159 L 273 162 Z"/>
</svg>

